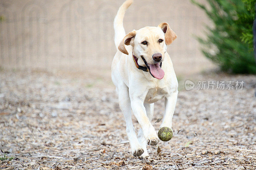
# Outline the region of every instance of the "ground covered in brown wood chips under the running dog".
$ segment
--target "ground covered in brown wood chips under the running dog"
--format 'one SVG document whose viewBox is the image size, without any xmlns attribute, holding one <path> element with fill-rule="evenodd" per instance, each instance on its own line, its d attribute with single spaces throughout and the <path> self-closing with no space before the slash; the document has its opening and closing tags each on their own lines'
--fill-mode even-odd
<svg viewBox="0 0 256 170">
<path fill-rule="evenodd" d="M 0 169 L 256 169 L 255 75 L 205 72 L 178 79 L 174 136 L 148 146 L 151 159 L 140 160 L 129 151 L 109 74 L 1 70 Z M 244 84 L 187 91 L 187 79 Z M 152 120 L 156 131 L 163 112 L 161 100 Z"/>
</svg>

